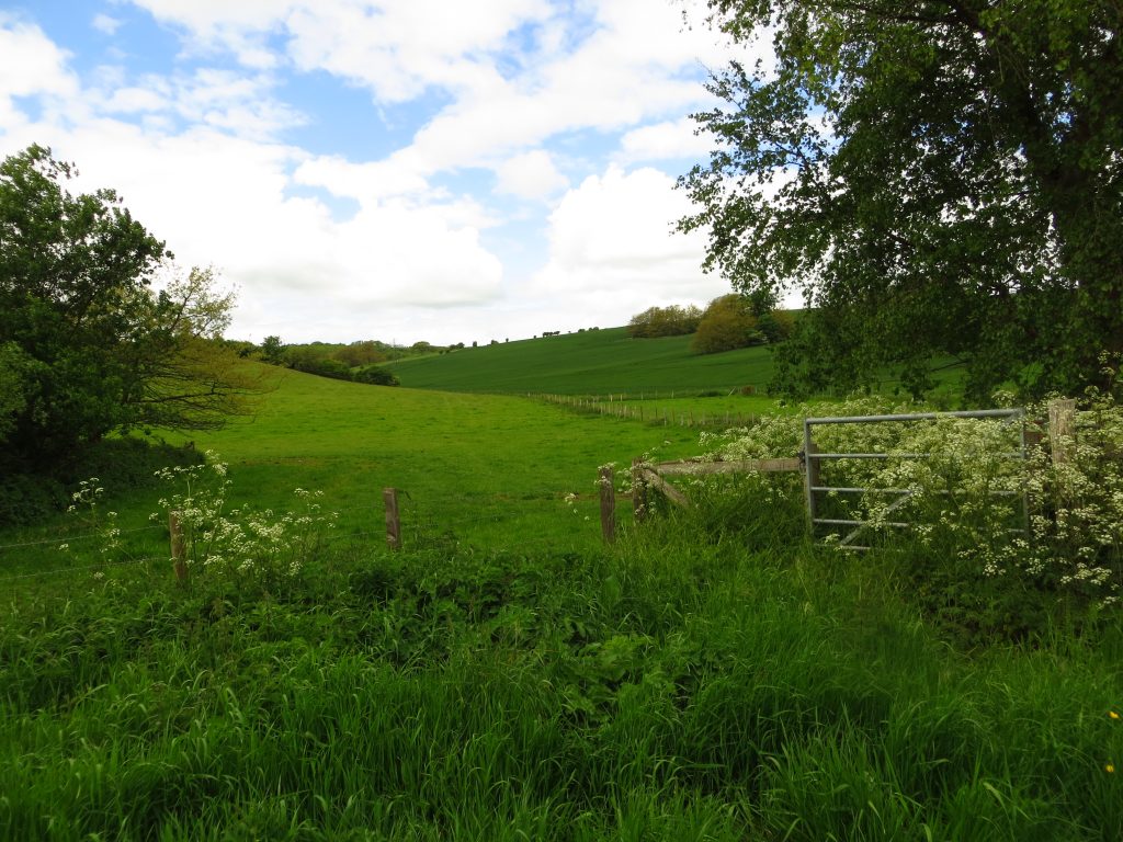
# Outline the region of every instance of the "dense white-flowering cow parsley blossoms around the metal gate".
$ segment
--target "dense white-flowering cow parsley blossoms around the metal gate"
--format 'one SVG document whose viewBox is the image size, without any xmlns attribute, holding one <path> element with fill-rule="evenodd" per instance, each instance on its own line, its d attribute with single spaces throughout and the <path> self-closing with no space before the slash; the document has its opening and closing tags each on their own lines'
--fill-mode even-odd
<svg viewBox="0 0 1123 842">
<path fill-rule="evenodd" d="M 1072 436 L 1057 442 L 1059 459 L 1046 422 L 1034 421 L 1048 418 L 1046 404 L 1026 408 L 1031 442 L 1041 443 L 1026 447 L 1024 458 L 1011 458 L 1023 452 L 1022 424 L 1004 420 L 816 425 L 820 451 L 888 455 L 824 460 L 823 485 L 879 491 L 832 493 L 823 505 L 832 518 L 865 521 L 873 530 L 911 523 L 920 541 L 947 547 L 988 576 L 1043 577 L 1113 604 L 1123 585 L 1123 406 L 1110 393 L 1089 391 L 1080 409 Z M 923 411 L 876 399 L 804 405 L 751 428 L 702 433 L 702 445 L 715 459 L 791 457 L 803 447 L 805 417 Z M 803 493 L 780 477 L 761 475 L 756 485 L 776 496 Z"/>
</svg>

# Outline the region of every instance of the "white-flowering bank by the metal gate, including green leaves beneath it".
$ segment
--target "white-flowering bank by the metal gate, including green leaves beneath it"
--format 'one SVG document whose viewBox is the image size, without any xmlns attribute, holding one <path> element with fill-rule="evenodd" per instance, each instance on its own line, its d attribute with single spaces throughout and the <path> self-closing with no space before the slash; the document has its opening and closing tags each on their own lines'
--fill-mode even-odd
<svg viewBox="0 0 1123 842">
<path fill-rule="evenodd" d="M 703 433 L 703 441 L 725 459 L 783 457 L 802 449 L 803 417 L 916 411 L 875 399 L 813 404 L 798 417 L 766 417 L 719 437 Z M 1031 427 L 1041 429 L 1044 422 L 1035 419 L 1047 418 L 1047 408 L 1026 412 Z M 1092 393 L 1062 461 L 1041 434 L 1043 443 L 1029 448 L 1025 459 L 1012 459 L 1022 449 L 1022 425 L 1002 420 L 815 427 L 822 451 L 888 455 L 823 463 L 823 485 L 869 491 L 819 495 L 820 516 L 866 523 L 858 543 L 906 548 L 916 593 L 960 626 L 1024 633 L 1039 626 L 1056 595 L 1106 608 L 1123 586 L 1123 475 L 1115 458 L 1123 451 L 1123 408 L 1110 393 Z M 780 498 L 803 494 L 772 482 L 770 494 Z M 893 527 L 900 522 L 911 529 Z"/>
</svg>

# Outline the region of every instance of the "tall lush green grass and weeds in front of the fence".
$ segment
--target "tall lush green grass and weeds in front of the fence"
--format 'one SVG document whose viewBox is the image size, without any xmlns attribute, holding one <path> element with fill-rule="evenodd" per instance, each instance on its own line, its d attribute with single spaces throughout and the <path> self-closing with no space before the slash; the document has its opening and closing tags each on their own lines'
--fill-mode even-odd
<svg viewBox="0 0 1123 842">
<path fill-rule="evenodd" d="M 965 655 L 761 529 L 15 606 L 0 838 L 1120 838 L 1117 642 Z"/>
</svg>

